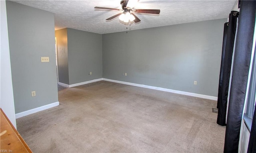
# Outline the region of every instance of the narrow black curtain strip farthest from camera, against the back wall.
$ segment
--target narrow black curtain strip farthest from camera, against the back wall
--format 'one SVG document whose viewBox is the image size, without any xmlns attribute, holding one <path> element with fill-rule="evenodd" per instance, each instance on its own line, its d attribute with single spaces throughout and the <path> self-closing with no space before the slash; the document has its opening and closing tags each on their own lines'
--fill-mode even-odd
<svg viewBox="0 0 256 153">
<path fill-rule="evenodd" d="M 218 97 L 221 96 L 221 89 L 222 89 L 222 82 L 223 82 L 223 67 L 224 67 L 224 59 L 225 59 L 225 53 L 226 53 L 227 33 L 228 33 L 228 22 L 224 24 Z M 220 98 L 218 98 L 217 108 L 219 108 L 219 105 L 220 105 Z"/>
</svg>

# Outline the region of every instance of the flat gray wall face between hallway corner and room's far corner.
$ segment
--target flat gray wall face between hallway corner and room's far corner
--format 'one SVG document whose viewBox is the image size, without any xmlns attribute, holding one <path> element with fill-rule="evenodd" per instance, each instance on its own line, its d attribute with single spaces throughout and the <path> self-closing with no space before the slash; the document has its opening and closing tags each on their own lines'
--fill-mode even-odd
<svg viewBox="0 0 256 153">
<path fill-rule="evenodd" d="M 102 78 L 101 34 L 68 28 L 68 73 L 70 84 Z"/>
</svg>

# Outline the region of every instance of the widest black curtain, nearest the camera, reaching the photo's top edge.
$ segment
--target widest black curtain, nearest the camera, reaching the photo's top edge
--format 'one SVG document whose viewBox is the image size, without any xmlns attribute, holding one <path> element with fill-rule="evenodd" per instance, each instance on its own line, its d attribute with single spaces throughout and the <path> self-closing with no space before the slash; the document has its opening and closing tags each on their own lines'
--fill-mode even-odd
<svg viewBox="0 0 256 153">
<path fill-rule="evenodd" d="M 255 27 L 256 1 L 241 1 L 230 88 L 224 153 L 238 153 L 238 143 Z"/>
</svg>

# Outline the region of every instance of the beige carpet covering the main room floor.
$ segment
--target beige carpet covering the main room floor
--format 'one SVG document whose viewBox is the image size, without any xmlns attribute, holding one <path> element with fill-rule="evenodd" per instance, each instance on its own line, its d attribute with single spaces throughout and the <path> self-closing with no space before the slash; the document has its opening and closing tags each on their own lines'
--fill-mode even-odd
<svg viewBox="0 0 256 153">
<path fill-rule="evenodd" d="M 222 153 L 216 101 L 100 81 L 59 91 L 60 106 L 17 119 L 34 153 Z"/>
</svg>

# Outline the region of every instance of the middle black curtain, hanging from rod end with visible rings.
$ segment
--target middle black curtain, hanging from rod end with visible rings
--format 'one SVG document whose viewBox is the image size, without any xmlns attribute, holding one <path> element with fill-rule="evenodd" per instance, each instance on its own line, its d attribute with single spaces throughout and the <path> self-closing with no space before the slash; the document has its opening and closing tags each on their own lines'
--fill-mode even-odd
<svg viewBox="0 0 256 153">
<path fill-rule="evenodd" d="M 232 64 L 232 55 L 233 55 L 234 41 L 236 36 L 236 24 L 237 24 L 238 14 L 239 12 L 237 11 L 231 11 L 229 15 L 229 21 L 228 21 L 226 46 L 222 46 L 222 55 L 224 54 L 224 57 L 222 57 L 222 61 L 221 61 L 223 65 L 221 65 L 222 67 L 220 68 L 220 77 L 222 78 L 220 78 L 220 82 L 219 82 L 218 103 L 217 103 L 217 108 L 218 108 L 217 124 L 221 126 L 226 126 L 228 87 L 229 87 L 229 80 L 230 80 L 230 70 L 231 70 L 231 64 Z"/>
</svg>

